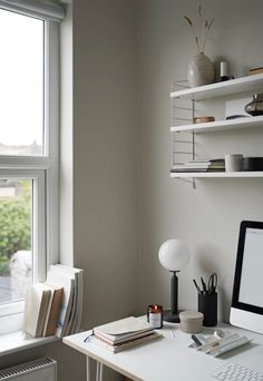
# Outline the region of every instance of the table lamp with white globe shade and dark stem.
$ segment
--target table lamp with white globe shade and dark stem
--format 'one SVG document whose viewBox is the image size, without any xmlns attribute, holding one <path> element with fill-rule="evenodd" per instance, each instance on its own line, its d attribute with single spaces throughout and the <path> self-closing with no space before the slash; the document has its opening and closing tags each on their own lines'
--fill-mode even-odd
<svg viewBox="0 0 263 381">
<path fill-rule="evenodd" d="M 179 240 L 168 240 L 162 244 L 158 253 L 160 264 L 172 272 L 171 310 L 164 311 L 166 322 L 178 323 L 178 277 L 176 273 L 185 268 L 189 262 L 189 248 Z"/>
</svg>

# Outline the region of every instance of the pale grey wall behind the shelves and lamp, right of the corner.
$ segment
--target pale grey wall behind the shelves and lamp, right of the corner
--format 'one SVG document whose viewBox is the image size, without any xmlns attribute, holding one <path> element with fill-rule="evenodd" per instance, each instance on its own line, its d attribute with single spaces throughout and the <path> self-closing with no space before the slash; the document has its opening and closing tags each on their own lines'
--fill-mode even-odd
<svg viewBox="0 0 263 381">
<path fill-rule="evenodd" d="M 262 65 L 262 1 L 204 1 L 206 17 L 214 17 L 206 53 L 225 58 L 238 77 L 250 65 Z M 179 306 L 196 309 L 193 277 L 217 271 L 220 313 L 228 320 L 233 272 L 242 219 L 263 219 L 262 179 L 199 179 L 196 189 L 169 178 L 171 82 L 186 79 L 186 67 L 196 53 L 192 31 L 183 20 L 197 14 L 197 1 L 144 0 L 138 4 L 139 144 L 140 144 L 140 309 L 149 302 L 168 306 L 169 275 L 158 263 L 160 244 L 171 237 L 185 240 L 193 252 L 188 267 L 179 274 Z M 225 149 L 262 154 L 260 129 L 215 134 Z M 233 146 L 228 139 L 233 139 Z M 227 147 L 227 148 L 226 148 Z"/>
</svg>

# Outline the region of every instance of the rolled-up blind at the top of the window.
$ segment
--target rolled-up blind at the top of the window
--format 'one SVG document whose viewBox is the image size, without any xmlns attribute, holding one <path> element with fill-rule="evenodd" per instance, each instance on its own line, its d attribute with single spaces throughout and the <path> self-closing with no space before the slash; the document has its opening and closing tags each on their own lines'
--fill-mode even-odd
<svg viewBox="0 0 263 381">
<path fill-rule="evenodd" d="M 52 21 L 61 21 L 65 17 L 62 6 L 45 0 L 0 0 L 0 8 Z"/>
</svg>

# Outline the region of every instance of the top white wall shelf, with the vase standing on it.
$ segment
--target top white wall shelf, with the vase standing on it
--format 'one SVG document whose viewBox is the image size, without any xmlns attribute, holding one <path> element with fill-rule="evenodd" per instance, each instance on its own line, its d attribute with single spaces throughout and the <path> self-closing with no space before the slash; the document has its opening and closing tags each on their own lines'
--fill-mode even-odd
<svg viewBox="0 0 263 381">
<path fill-rule="evenodd" d="M 257 89 L 263 89 L 262 74 L 194 87 L 181 91 L 173 91 L 171 92 L 171 97 L 201 100 L 210 97 L 221 97 Z"/>
</svg>

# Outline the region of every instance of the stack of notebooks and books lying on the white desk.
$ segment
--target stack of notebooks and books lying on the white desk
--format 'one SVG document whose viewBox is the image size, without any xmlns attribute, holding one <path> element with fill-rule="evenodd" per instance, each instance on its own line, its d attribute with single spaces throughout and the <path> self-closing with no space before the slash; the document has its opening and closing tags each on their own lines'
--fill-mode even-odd
<svg viewBox="0 0 263 381">
<path fill-rule="evenodd" d="M 134 316 L 96 326 L 92 334 L 95 343 L 114 353 L 158 338 L 162 338 L 162 334 L 149 323 Z"/>
</svg>

